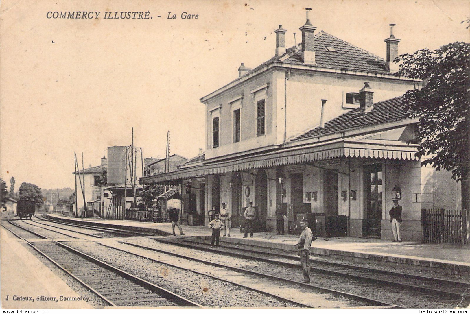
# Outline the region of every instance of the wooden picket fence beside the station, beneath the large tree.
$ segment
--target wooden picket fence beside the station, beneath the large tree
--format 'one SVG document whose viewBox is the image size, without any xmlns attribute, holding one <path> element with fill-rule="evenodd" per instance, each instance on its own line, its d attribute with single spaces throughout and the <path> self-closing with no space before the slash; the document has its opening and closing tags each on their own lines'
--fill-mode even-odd
<svg viewBox="0 0 470 314">
<path fill-rule="evenodd" d="M 470 244 L 470 211 L 421 210 L 425 243 Z"/>
</svg>

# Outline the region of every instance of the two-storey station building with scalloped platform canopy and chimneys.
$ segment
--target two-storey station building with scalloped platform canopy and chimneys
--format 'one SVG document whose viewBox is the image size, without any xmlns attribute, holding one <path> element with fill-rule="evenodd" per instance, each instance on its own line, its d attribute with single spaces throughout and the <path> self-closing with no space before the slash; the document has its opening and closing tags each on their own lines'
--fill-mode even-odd
<svg viewBox="0 0 470 314">
<path fill-rule="evenodd" d="M 319 236 L 390 237 L 388 212 L 399 198 L 403 236 L 421 240 L 421 210 L 458 206 L 458 192 L 447 191 L 458 187 L 415 157 L 417 120 L 401 95 L 421 81 L 393 74 L 393 26 L 383 59 L 315 33 L 308 12 L 297 47 L 284 47 L 279 25 L 273 58 L 254 69 L 242 63 L 237 79 L 201 98 L 205 154 L 141 183 L 191 187 L 183 197 L 195 194 L 196 205 L 183 212 L 196 207 L 206 220 L 227 203 L 235 227 L 253 202 L 259 231 L 275 229 L 280 207 L 291 232 L 305 218 Z"/>
</svg>

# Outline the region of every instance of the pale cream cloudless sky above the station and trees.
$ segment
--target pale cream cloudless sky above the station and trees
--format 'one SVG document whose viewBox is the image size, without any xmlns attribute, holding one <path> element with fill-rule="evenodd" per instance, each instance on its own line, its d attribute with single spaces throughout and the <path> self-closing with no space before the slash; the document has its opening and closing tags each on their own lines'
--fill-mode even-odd
<svg viewBox="0 0 470 314">
<path fill-rule="evenodd" d="M 74 152 L 100 165 L 108 146 L 134 143 L 144 157 L 204 148 L 199 99 L 286 47 L 305 23 L 385 58 L 389 24 L 399 54 L 470 41 L 467 0 L 2 0 L 0 4 L 0 176 L 40 188 L 74 186 Z M 47 12 L 95 11 L 93 19 Z M 104 12 L 149 19 L 104 19 Z M 169 14 L 169 12 L 171 12 Z M 198 15 L 182 19 L 181 13 Z M 175 14 L 176 19 L 167 17 Z M 114 15 L 114 14 L 113 14 Z M 145 16 L 145 14 L 143 15 Z"/>
</svg>

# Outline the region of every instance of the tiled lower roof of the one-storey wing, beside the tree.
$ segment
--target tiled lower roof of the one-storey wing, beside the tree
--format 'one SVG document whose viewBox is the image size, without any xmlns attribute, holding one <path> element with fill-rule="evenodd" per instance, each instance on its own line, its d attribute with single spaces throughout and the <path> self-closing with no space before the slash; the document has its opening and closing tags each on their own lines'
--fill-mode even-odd
<svg viewBox="0 0 470 314">
<path fill-rule="evenodd" d="M 374 104 L 374 109 L 368 113 L 362 112 L 360 108 L 353 109 L 326 122 L 325 127 L 316 127 L 298 135 L 291 141 L 307 140 L 332 133 L 388 122 L 396 122 L 404 118 L 408 118 L 411 110 L 407 110 L 403 100 L 404 96 L 399 96 L 383 102 L 376 102 Z"/>
</svg>

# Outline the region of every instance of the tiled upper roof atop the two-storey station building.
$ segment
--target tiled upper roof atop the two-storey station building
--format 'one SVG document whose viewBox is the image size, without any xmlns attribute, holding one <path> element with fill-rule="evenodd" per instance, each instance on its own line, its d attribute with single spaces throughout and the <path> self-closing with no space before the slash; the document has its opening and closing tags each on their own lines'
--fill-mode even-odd
<svg viewBox="0 0 470 314">
<path fill-rule="evenodd" d="M 333 47 L 334 51 L 329 51 L 333 49 L 327 49 L 327 47 Z M 298 44 L 298 47 L 290 47 L 285 54 L 267 60 L 252 71 L 276 61 L 289 64 L 304 64 L 300 48 L 301 44 Z M 390 73 L 387 71 L 383 58 L 330 35 L 325 31 L 315 34 L 313 49 L 315 50 L 315 65 L 322 68 Z"/>
</svg>

